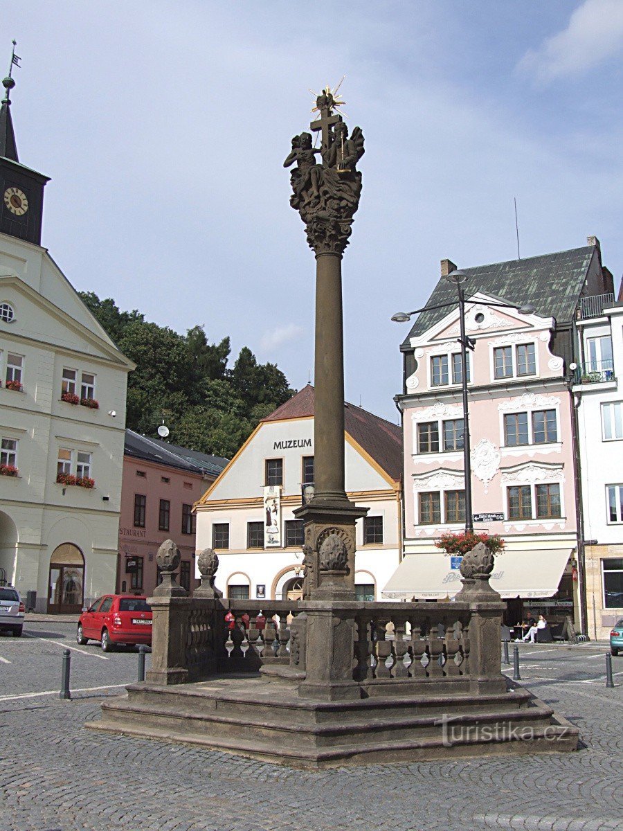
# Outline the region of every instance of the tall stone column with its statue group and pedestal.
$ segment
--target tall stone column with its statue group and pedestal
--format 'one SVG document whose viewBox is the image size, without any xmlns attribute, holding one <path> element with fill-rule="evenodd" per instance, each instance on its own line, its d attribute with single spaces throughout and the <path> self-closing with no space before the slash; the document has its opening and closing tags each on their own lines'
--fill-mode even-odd
<svg viewBox="0 0 623 831">
<path fill-rule="evenodd" d="M 349 136 L 337 112 L 340 102 L 326 88 L 316 99 L 320 117 L 292 139 L 285 167 L 292 170 L 290 204 L 305 223 L 316 254 L 316 347 L 314 479 L 312 501 L 294 514 L 305 522 L 303 605 L 307 616 L 307 679 L 302 691 L 323 698 L 356 697 L 352 681 L 355 619 L 343 602 L 355 601 L 355 524 L 368 509 L 346 496 L 344 469 L 344 336 L 341 260 L 359 207 L 364 153 L 359 127 Z M 316 160 L 316 156 L 320 156 Z M 340 606 L 340 614 L 337 608 Z"/>
</svg>

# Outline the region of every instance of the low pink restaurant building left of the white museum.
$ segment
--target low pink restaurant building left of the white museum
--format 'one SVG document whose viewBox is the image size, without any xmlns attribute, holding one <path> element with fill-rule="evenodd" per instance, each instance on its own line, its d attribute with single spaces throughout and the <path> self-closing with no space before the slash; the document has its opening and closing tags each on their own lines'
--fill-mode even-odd
<svg viewBox="0 0 623 831">
<path fill-rule="evenodd" d="M 182 554 L 180 585 L 196 587 L 193 507 L 227 461 L 125 430 L 117 592 L 153 592 L 155 554 L 168 538 Z"/>
</svg>

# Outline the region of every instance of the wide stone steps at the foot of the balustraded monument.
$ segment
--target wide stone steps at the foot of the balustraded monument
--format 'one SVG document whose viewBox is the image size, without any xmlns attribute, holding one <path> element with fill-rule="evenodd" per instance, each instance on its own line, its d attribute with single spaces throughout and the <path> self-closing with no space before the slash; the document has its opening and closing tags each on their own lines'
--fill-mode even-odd
<svg viewBox="0 0 623 831">
<path fill-rule="evenodd" d="M 91 730 L 202 745 L 302 768 L 576 750 L 578 730 L 530 692 L 427 690 L 318 701 L 286 666 L 255 676 L 127 687 Z M 412 685 L 408 685 L 412 686 Z M 365 695 L 361 686 L 361 695 Z"/>
</svg>

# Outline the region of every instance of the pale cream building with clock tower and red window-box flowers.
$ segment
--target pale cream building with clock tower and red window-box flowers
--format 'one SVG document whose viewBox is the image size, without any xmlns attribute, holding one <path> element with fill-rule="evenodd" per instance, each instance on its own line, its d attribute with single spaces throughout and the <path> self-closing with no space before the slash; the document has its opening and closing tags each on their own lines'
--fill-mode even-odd
<svg viewBox="0 0 623 831">
<path fill-rule="evenodd" d="M 5 82 L 5 86 L 6 82 Z M 127 373 L 42 248 L 47 178 L 0 112 L 0 581 L 38 612 L 115 588 Z M 37 593 L 35 602 L 34 594 Z"/>
</svg>

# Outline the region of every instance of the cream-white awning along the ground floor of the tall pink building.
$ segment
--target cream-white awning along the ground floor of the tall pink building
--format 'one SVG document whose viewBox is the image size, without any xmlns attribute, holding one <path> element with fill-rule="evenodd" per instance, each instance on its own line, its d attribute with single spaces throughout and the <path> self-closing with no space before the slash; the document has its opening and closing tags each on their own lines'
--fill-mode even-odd
<svg viewBox="0 0 623 831">
<path fill-rule="evenodd" d="M 558 591 L 571 548 L 504 551 L 495 555 L 490 583 L 504 600 L 552 597 Z M 406 554 L 381 597 L 392 600 L 443 600 L 462 588 L 459 557 Z"/>
</svg>

